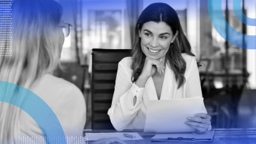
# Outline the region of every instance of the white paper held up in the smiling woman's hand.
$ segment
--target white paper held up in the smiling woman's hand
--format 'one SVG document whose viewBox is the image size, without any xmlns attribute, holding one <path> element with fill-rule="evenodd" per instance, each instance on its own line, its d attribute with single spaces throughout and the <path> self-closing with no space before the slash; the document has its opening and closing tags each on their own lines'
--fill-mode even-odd
<svg viewBox="0 0 256 144">
<path fill-rule="evenodd" d="M 145 133 L 187 133 L 195 131 L 185 124 L 187 117 L 203 112 L 203 98 L 151 100 L 146 115 Z"/>
</svg>

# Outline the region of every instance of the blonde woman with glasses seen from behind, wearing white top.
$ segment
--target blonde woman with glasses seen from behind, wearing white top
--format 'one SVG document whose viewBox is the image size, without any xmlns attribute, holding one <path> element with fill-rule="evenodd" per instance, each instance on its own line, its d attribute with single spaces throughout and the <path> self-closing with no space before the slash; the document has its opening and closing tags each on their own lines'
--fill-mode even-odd
<svg viewBox="0 0 256 144">
<path fill-rule="evenodd" d="M 82 136 L 86 105 L 79 89 L 54 77 L 70 25 L 61 20 L 63 9 L 53 0 L 15 0 L 12 4 L 11 56 L 0 57 L 0 81 L 29 89 L 56 114 L 65 136 Z M 63 29 L 65 34 L 63 34 Z M 18 143 L 18 136 L 43 136 L 29 114 L 0 102 L 0 143 Z M 110 138 L 96 143 L 123 143 Z"/>
</svg>

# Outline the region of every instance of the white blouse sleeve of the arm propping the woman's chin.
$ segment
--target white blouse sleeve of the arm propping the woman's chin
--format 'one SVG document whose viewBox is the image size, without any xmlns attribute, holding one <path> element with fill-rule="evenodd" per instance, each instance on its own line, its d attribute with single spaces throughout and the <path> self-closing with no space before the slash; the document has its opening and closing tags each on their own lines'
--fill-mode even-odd
<svg viewBox="0 0 256 144">
<path fill-rule="evenodd" d="M 132 122 L 141 107 L 144 88 L 139 88 L 132 83 L 127 60 L 118 63 L 117 77 L 115 79 L 115 92 L 112 105 L 108 110 L 110 121 L 117 131 L 122 131 Z M 134 96 L 136 103 L 133 104 Z"/>
</svg>

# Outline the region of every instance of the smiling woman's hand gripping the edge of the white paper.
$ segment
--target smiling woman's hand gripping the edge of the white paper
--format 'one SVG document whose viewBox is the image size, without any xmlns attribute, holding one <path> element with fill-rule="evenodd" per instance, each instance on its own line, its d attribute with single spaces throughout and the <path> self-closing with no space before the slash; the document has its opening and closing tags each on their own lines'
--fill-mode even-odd
<svg viewBox="0 0 256 144">
<path fill-rule="evenodd" d="M 195 117 L 188 117 L 189 121 L 186 121 L 185 123 L 188 124 L 188 126 L 195 128 L 197 133 L 204 133 L 207 131 L 211 125 L 210 115 L 205 113 L 197 113 L 194 114 L 194 116 Z"/>
</svg>

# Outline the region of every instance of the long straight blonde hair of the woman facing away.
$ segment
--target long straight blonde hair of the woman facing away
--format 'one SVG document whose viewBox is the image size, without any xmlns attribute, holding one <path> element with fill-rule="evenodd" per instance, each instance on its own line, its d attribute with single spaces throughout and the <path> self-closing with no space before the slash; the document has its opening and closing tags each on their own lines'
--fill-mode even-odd
<svg viewBox="0 0 256 144">
<path fill-rule="evenodd" d="M 59 24 L 62 8 L 53 0 L 15 0 L 12 4 L 11 56 L 0 56 L 0 81 L 29 89 L 53 72 L 60 58 Z M 19 109 L 1 105 L 0 143 L 18 135 Z"/>
</svg>

